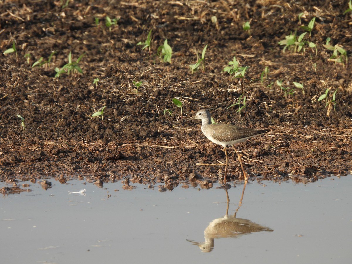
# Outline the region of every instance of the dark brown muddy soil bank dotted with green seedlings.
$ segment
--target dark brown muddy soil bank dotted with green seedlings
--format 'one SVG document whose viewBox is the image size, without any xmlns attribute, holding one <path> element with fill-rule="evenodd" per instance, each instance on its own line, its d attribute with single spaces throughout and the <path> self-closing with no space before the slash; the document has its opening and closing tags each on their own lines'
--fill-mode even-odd
<svg viewBox="0 0 352 264">
<path fill-rule="evenodd" d="M 89 177 L 101 185 L 129 177 L 149 187 L 163 183 L 172 189 L 180 182 L 211 187 L 222 179 L 224 166 L 196 163 L 225 162 L 224 151 L 203 136 L 200 122 L 182 123 L 205 107 L 215 108 L 216 122 L 269 130 L 235 146 L 251 179 L 314 181 L 350 173 L 350 62 L 331 61 L 333 51 L 322 46 L 329 37 L 351 55 L 351 12 L 343 15 L 347 1 L 82 0 L 62 8 L 65 2 L 0 0 L 1 51 L 13 42 L 17 49 L 0 56 L 1 181 Z M 301 25 L 316 17 L 311 37 L 304 39 L 317 52 L 306 44 L 304 52 L 283 53 L 278 42 L 304 32 L 301 12 Z M 109 29 L 106 17 L 117 18 L 117 25 Z M 245 21 L 250 33 L 242 28 Z M 148 48 L 136 44 L 151 29 L 149 56 Z M 157 56 L 165 39 L 171 63 Z M 205 45 L 204 69 L 191 73 L 189 64 Z M 32 67 L 52 51 L 50 63 Z M 83 73 L 56 78 L 55 68 L 68 63 L 70 51 L 73 61 L 85 52 L 78 64 Z M 233 56 L 249 66 L 244 80 L 223 72 Z M 265 67 L 269 74 L 262 84 Z M 285 95 L 276 80 L 288 90 L 293 82 L 303 83 L 304 94 L 296 88 Z M 133 81 L 143 81 L 138 91 Z M 326 89 L 327 98 L 318 101 Z M 242 94 L 246 107 L 240 113 L 238 106 L 228 108 Z M 183 102 L 182 117 L 173 98 Z M 103 106 L 103 120 L 92 118 Z M 241 169 L 235 151 L 228 150 L 231 181 Z"/>
</svg>

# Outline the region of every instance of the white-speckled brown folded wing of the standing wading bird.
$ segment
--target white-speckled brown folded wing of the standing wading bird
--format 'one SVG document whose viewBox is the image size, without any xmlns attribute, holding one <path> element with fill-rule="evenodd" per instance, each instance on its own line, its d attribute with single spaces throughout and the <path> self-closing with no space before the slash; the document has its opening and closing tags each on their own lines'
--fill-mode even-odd
<svg viewBox="0 0 352 264">
<path fill-rule="evenodd" d="M 228 145 L 243 142 L 254 136 L 263 134 L 265 130 L 239 127 L 235 125 L 213 124 L 209 126 L 211 136 L 219 142 L 228 142 Z"/>
</svg>

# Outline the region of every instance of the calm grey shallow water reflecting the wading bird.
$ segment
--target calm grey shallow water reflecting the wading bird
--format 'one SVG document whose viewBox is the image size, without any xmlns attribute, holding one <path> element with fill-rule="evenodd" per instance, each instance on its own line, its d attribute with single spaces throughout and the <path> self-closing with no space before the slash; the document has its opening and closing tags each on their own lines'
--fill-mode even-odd
<svg viewBox="0 0 352 264">
<path fill-rule="evenodd" d="M 231 184 L 227 218 L 217 184 L 163 193 L 120 182 L 31 184 L 1 197 L 1 262 L 351 263 L 351 175 L 250 181 L 239 209 L 244 183 Z"/>
</svg>

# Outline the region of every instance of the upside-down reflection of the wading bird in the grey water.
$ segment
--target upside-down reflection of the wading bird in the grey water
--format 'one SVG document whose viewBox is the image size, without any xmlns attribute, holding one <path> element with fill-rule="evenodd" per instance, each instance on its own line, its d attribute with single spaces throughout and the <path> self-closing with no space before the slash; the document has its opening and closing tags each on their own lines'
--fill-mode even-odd
<svg viewBox="0 0 352 264">
<path fill-rule="evenodd" d="M 241 196 L 241 200 L 239 201 L 238 208 L 236 209 L 233 215 L 228 215 L 228 207 L 229 207 L 230 199 L 228 197 L 228 192 L 226 189 L 225 190 L 226 197 L 227 197 L 226 215 L 220 218 L 216 218 L 204 230 L 205 242 L 198 243 L 189 239 L 187 239 L 187 241 L 191 242 L 193 245 L 199 246 L 202 252 L 210 252 L 214 249 L 214 238 L 238 238 L 241 235 L 250 234 L 253 232 L 274 231 L 268 227 L 253 223 L 248 219 L 236 218 L 238 209 L 242 205 L 246 183 L 247 182 L 245 182 L 243 186 L 242 196 Z"/>
</svg>

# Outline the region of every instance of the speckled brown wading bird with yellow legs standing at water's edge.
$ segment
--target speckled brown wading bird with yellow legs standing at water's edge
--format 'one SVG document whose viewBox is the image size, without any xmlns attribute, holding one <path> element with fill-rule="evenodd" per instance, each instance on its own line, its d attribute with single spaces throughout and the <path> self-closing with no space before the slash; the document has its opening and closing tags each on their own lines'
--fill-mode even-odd
<svg viewBox="0 0 352 264">
<path fill-rule="evenodd" d="M 195 120 L 195 119 L 202 120 L 202 132 L 211 142 L 224 147 L 225 156 L 226 156 L 224 184 L 226 184 L 227 165 L 228 165 L 226 147 L 233 146 L 236 143 L 244 142 L 247 139 L 259 136 L 261 134 L 264 134 L 267 131 L 267 130 L 255 130 L 253 128 L 240 127 L 240 126 L 235 126 L 231 124 L 212 124 L 211 115 L 208 109 L 200 109 L 193 117 L 185 120 L 185 122 Z M 245 181 L 247 181 L 247 175 L 243 168 L 241 156 L 238 153 L 236 148 L 235 148 L 235 151 L 237 153 L 238 160 L 241 164 L 243 176 L 245 178 Z"/>
</svg>

